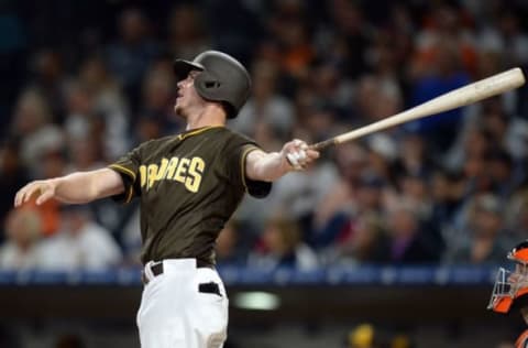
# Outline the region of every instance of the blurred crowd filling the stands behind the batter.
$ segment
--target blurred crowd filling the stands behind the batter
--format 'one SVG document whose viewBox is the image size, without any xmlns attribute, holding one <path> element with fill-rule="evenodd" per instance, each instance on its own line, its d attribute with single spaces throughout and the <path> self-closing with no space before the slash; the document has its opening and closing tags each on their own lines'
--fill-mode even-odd
<svg viewBox="0 0 528 348">
<path fill-rule="evenodd" d="M 101 167 L 182 131 L 175 57 L 216 48 L 248 66 L 253 94 L 229 127 L 266 151 L 528 66 L 526 1 L 85 1 L 57 12 L 51 3 L 0 6 L 1 269 L 139 262 L 138 203 L 12 210 L 12 202 L 30 180 Z M 528 238 L 527 100 L 520 88 L 324 150 L 268 198 L 244 199 L 218 262 L 503 262 Z"/>
</svg>

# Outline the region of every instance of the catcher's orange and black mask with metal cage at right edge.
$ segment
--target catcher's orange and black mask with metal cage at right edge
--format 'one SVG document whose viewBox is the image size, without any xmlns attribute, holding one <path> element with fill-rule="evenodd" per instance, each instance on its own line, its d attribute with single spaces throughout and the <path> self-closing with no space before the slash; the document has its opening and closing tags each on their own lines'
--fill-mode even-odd
<svg viewBox="0 0 528 348">
<path fill-rule="evenodd" d="M 515 269 L 498 269 L 487 305 L 488 309 L 498 313 L 508 313 L 516 298 L 528 294 L 528 240 L 517 244 L 508 253 L 508 260 L 515 262 Z"/>
</svg>

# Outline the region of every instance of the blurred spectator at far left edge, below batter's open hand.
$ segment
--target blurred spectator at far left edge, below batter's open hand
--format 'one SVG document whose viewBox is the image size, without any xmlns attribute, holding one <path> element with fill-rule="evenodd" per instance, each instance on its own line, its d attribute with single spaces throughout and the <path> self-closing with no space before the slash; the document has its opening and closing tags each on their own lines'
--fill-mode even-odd
<svg viewBox="0 0 528 348">
<path fill-rule="evenodd" d="M 31 208 L 11 210 L 4 230 L 8 239 L 0 247 L 0 269 L 23 271 L 38 267 L 41 215 Z"/>
</svg>

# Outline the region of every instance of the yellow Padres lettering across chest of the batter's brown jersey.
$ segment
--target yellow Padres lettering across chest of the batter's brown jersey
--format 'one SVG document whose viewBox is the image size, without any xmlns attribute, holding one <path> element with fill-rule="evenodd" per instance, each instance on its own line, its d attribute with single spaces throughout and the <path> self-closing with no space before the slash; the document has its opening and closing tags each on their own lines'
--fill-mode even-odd
<svg viewBox="0 0 528 348">
<path fill-rule="evenodd" d="M 201 175 L 206 162 L 201 157 L 172 157 L 162 159 L 160 164 L 142 164 L 140 166 L 141 187 L 151 189 L 156 182 L 175 181 L 185 185 L 189 192 L 200 189 Z"/>
</svg>

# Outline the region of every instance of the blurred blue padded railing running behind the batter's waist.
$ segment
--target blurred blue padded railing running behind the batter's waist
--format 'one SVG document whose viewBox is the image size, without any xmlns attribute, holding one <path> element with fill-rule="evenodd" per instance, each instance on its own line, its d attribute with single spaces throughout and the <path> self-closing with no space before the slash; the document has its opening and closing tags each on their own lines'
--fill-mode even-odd
<svg viewBox="0 0 528 348">
<path fill-rule="evenodd" d="M 358 265 L 311 271 L 292 268 L 218 268 L 228 286 L 237 285 L 486 285 L 493 284 L 497 267 L 492 265 Z M 0 271 L 0 286 L 11 285 L 141 285 L 140 268 L 88 272 Z"/>
</svg>

